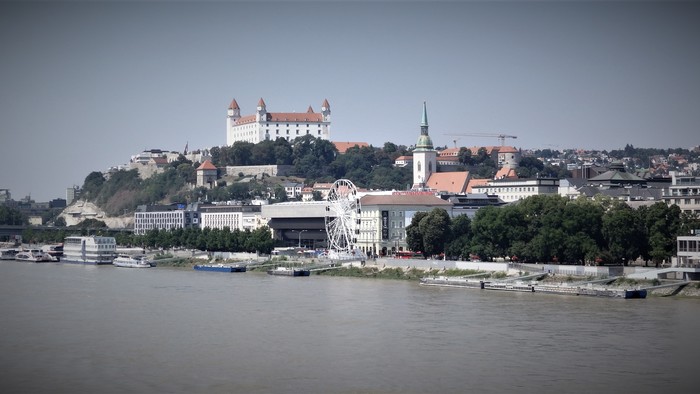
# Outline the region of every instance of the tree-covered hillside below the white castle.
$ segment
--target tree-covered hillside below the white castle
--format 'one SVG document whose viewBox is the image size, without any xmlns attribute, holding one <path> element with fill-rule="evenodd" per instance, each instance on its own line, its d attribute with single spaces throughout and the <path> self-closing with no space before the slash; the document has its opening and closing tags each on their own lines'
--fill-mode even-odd
<svg viewBox="0 0 700 394">
<path fill-rule="evenodd" d="M 231 177 L 214 189 L 194 187 L 200 163 L 184 156 L 170 163 L 162 173 L 141 179 L 136 170 L 119 170 L 105 177 L 91 172 L 82 187 L 82 199 L 99 205 L 108 215 L 133 213 L 138 205 L 189 203 L 202 200 L 271 199 L 286 201 L 281 183 L 300 180 L 307 185 L 347 178 L 357 186 L 371 189 L 404 190 L 412 183 L 410 168 L 395 168 L 394 160 L 407 154 L 405 146 L 386 143 L 382 148 L 353 147 L 339 154 L 333 143 L 312 136 L 262 141 L 236 142 L 211 149 L 212 162 L 222 168 L 246 165 L 290 165 L 290 177 Z"/>
</svg>

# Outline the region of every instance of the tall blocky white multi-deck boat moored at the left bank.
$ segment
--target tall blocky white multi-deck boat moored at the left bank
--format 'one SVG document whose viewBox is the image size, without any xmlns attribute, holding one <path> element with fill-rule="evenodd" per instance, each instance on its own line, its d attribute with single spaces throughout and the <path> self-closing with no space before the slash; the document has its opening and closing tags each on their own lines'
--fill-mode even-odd
<svg viewBox="0 0 700 394">
<path fill-rule="evenodd" d="M 116 257 L 114 237 L 97 235 L 66 237 L 63 242 L 62 262 L 78 264 L 112 264 Z"/>
</svg>

